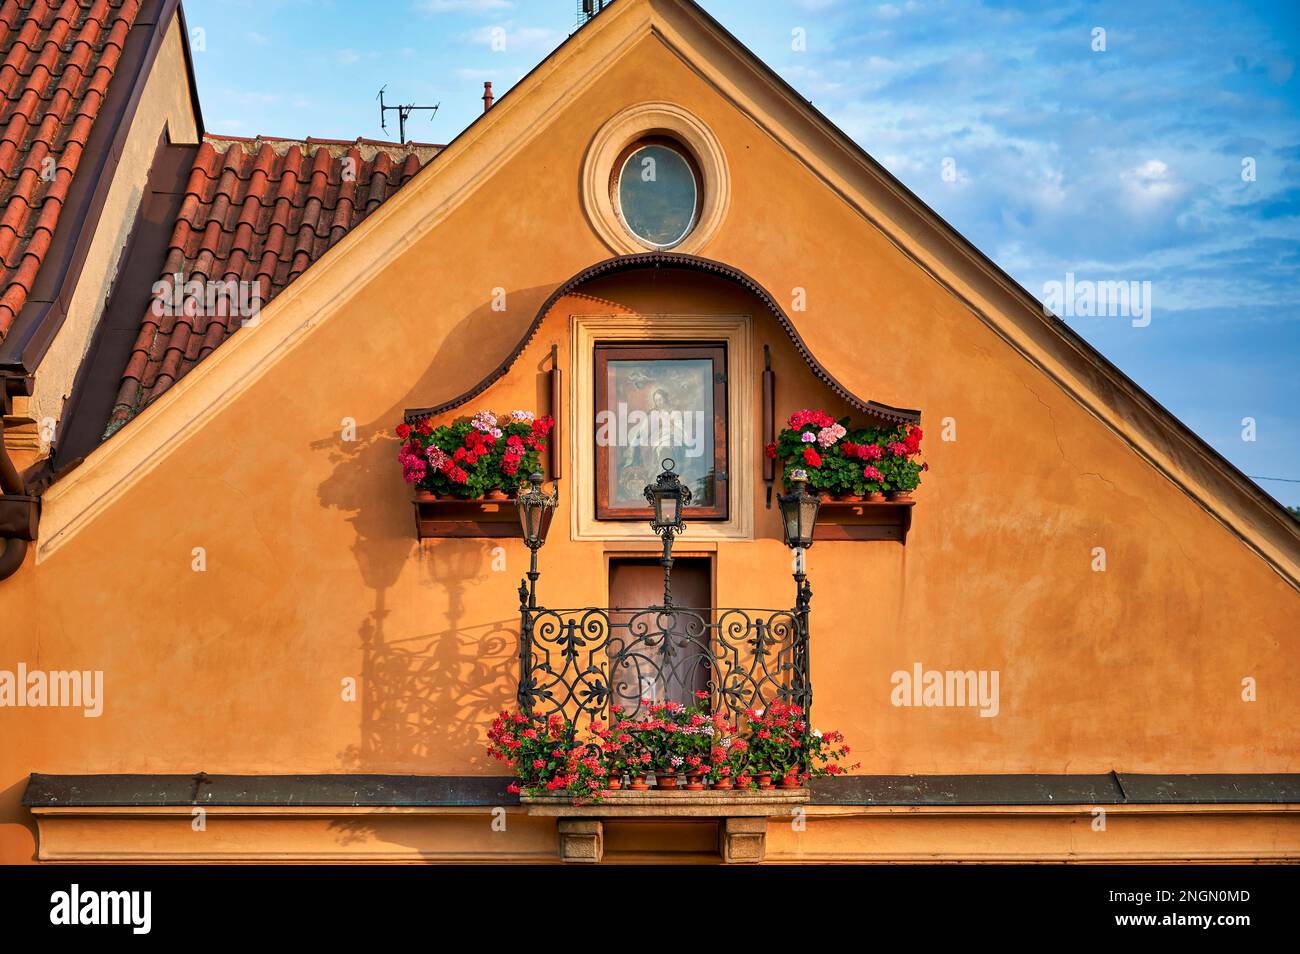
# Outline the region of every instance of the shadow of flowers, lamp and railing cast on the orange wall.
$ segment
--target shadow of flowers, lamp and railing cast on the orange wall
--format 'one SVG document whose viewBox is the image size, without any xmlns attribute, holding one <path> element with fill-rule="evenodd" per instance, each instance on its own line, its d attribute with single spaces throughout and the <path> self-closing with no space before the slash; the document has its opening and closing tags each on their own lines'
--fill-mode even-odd
<svg viewBox="0 0 1300 954">
<path fill-rule="evenodd" d="M 510 300 L 520 303 L 520 315 L 503 316 L 485 304 L 459 322 L 447 339 L 464 335 L 499 339 L 504 355 L 523 335 L 536 313 L 536 303 L 546 294 L 546 289 L 511 294 Z M 528 302 L 534 303 L 532 309 L 524 304 Z M 517 329 L 503 334 L 499 330 L 503 320 L 512 320 Z M 484 334 L 489 325 L 498 329 L 495 334 Z M 312 445 L 312 450 L 329 455 L 332 464 L 330 476 L 317 489 L 320 504 L 347 513 L 355 534 L 352 558 L 365 587 L 373 593 L 370 611 L 358 625 L 363 655 L 358 686 L 360 734 L 355 745 L 339 753 L 341 771 L 497 775 L 500 769 L 488 759 L 484 747 L 491 719 L 515 698 L 519 619 L 502 613 L 507 607 L 499 599 L 490 604 L 469 599 L 472 589 L 491 572 L 498 542 L 419 542 L 411 490 L 396 463 L 394 428 L 406 408 L 455 396 L 455 391 L 448 393 L 446 370 L 441 367 L 447 359 L 445 344 L 400 403 L 380 420 L 358 422 L 354 441 L 332 433 Z M 341 411 L 339 417 L 344 413 Z M 389 606 L 389 593 L 412 559 L 421 565 L 420 606 L 394 608 Z M 407 587 L 403 593 L 412 590 Z M 498 619 L 481 619 L 488 606 Z M 510 610 L 514 606 L 512 598 Z M 445 612 L 446 625 L 416 636 L 410 629 L 391 634 L 389 617 L 394 612 L 402 620 Z M 446 766 L 455 766 L 455 772 Z"/>
</svg>

